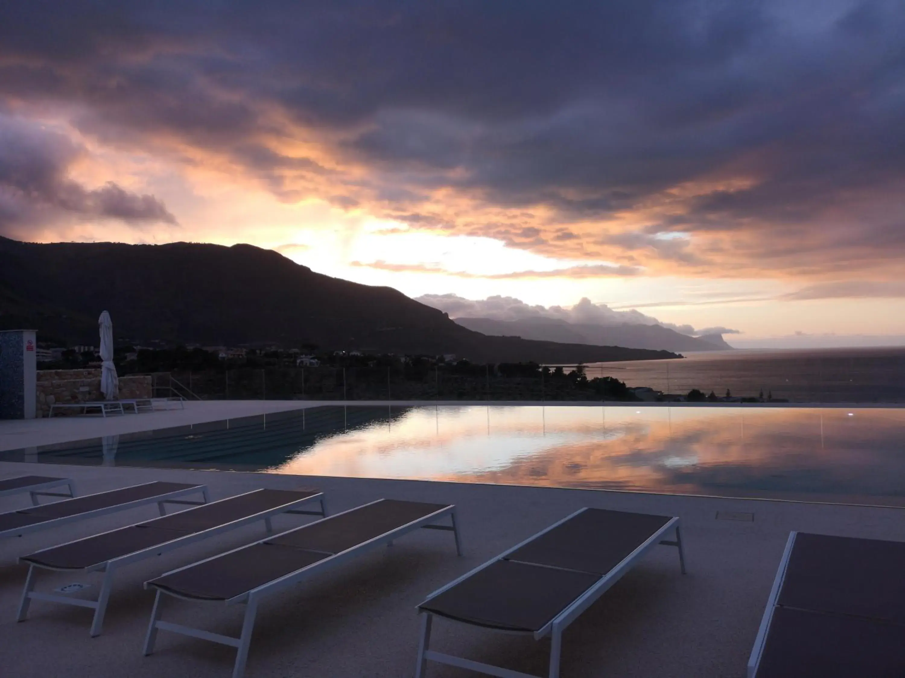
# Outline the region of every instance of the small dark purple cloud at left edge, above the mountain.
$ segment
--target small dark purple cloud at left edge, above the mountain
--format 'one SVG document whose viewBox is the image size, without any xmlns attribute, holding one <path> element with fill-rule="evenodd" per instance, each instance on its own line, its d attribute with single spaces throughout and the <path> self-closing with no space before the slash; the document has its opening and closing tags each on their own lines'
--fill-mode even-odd
<svg viewBox="0 0 905 678">
<path fill-rule="evenodd" d="M 176 223 L 153 195 L 130 193 L 108 182 L 87 189 L 66 177 L 81 148 L 59 132 L 0 114 L 0 233 L 59 215 Z"/>
</svg>

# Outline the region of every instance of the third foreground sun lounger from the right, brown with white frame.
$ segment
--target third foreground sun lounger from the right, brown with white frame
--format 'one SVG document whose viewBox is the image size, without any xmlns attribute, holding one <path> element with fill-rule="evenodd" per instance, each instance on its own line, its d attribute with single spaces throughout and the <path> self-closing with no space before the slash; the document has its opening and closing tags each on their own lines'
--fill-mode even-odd
<svg viewBox="0 0 905 678">
<path fill-rule="evenodd" d="M 451 525 L 436 524 L 446 516 L 449 516 Z M 145 583 L 146 589 L 157 589 L 145 639 L 145 654 L 154 651 L 158 630 L 230 645 L 237 649 L 233 678 L 240 678 L 248 657 L 254 617 L 263 598 L 280 593 L 318 572 L 337 567 L 378 546 L 388 545 L 419 528 L 452 531 L 456 551 L 462 555 L 454 505 L 380 499 L 167 572 Z M 176 598 L 220 605 L 244 604 L 242 635 L 238 638 L 222 636 L 160 621 L 161 594 L 165 593 Z"/>
</svg>

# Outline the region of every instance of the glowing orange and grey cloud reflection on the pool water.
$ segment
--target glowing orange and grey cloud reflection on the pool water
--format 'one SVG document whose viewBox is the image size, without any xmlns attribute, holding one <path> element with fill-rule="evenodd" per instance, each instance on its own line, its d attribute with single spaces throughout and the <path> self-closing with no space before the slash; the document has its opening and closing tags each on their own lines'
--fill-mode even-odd
<svg viewBox="0 0 905 678">
<path fill-rule="evenodd" d="M 270 470 L 905 503 L 905 410 L 421 407 Z"/>
</svg>

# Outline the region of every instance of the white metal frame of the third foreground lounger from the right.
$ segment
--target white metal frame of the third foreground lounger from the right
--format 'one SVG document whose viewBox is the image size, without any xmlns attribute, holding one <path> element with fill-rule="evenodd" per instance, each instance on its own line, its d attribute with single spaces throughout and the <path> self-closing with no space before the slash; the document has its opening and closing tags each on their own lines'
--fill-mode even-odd
<svg viewBox="0 0 905 678">
<path fill-rule="evenodd" d="M 349 509 L 348 511 L 343 511 L 341 513 L 336 513 L 330 518 L 336 518 L 338 515 L 342 515 L 343 513 L 349 513 L 351 511 L 356 511 L 357 509 L 361 509 L 365 506 L 370 506 L 371 504 L 377 504 L 381 500 L 377 500 L 376 502 L 370 502 L 368 504 L 362 504 L 361 506 L 356 506 L 355 508 Z M 430 524 L 433 521 L 436 521 L 438 518 L 443 518 L 444 516 L 450 516 L 451 525 L 435 525 Z M 313 523 L 312 523 L 313 524 Z M 260 541 L 254 542 L 255 544 L 263 543 L 264 541 L 270 541 L 271 539 L 275 539 L 284 534 L 289 534 L 290 532 L 297 532 L 299 530 L 303 530 L 307 527 L 303 525 L 302 527 L 294 528 L 288 532 L 281 532 L 281 534 L 276 535 L 275 537 L 267 537 L 266 539 L 262 539 Z M 245 663 L 248 660 L 248 649 L 249 645 L 252 642 L 252 631 L 254 629 L 254 617 L 257 615 L 258 605 L 261 603 L 262 599 L 268 598 L 269 596 L 279 593 L 282 590 L 289 589 L 296 584 L 304 581 L 305 579 L 309 579 L 310 577 L 318 574 L 322 570 L 329 570 L 330 568 L 336 567 L 337 565 L 345 562 L 346 560 L 352 560 L 353 558 L 357 558 L 357 556 L 365 553 L 367 551 L 372 551 L 379 546 L 389 546 L 398 539 L 402 537 L 408 532 L 414 532 L 415 530 L 424 528 L 426 530 L 445 530 L 453 533 L 455 538 L 455 548 L 456 553 L 458 555 L 462 555 L 462 540 L 459 534 L 458 523 L 456 521 L 456 507 L 455 505 L 444 506 L 442 509 L 425 515 L 423 518 L 419 518 L 411 523 L 406 523 L 405 525 L 401 525 L 400 527 L 395 528 L 395 530 L 391 530 L 389 532 L 384 532 L 368 541 L 362 541 L 355 546 L 348 548 L 346 551 L 339 551 L 333 555 L 328 556 L 323 560 L 318 560 L 317 562 L 313 562 L 307 567 L 301 568 L 300 570 L 295 570 L 294 572 L 290 572 L 287 575 L 279 579 L 273 579 L 266 584 L 262 584 L 256 589 L 252 589 L 250 591 L 246 591 L 240 596 L 236 596 L 234 598 L 229 598 L 228 600 L 203 600 L 199 598 L 189 598 L 186 596 L 180 596 L 173 591 L 168 591 L 165 589 L 160 589 L 152 582 L 145 582 L 145 589 L 155 588 L 157 589 L 157 596 L 154 598 L 154 608 L 151 611 L 151 620 L 148 624 L 148 634 L 145 636 L 145 646 L 144 646 L 144 654 L 148 656 L 154 652 L 154 645 L 157 642 L 157 631 L 170 631 L 172 633 L 182 634 L 183 636 L 192 636 L 193 638 L 200 638 L 201 640 L 207 640 L 212 643 L 219 643 L 221 645 L 229 645 L 230 647 L 235 647 L 236 657 L 235 664 L 233 664 L 233 678 L 242 678 L 242 675 L 245 671 Z M 248 546 L 252 546 L 253 544 L 247 544 L 246 546 L 241 547 L 240 549 L 233 549 L 233 551 L 241 551 L 244 548 L 248 548 Z M 232 553 L 233 551 L 226 551 L 226 553 Z M 191 565 L 186 565 L 184 568 L 179 568 L 178 570 L 171 570 L 167 572 L 167 574 L 162 575 L 166 577 L 168 574 L 173 574 L 174 572 L 179 572 L 181 570 L 187 570 L 188 568 L 194 567 L 195 565 L 207 562 L 208 560 L 214 560 L 214 558 L 219 558 L 225 555 L 225 553 L 218 554 L 212 558 L 207 558 L 205 560 L 199 560 L 198 562 L 192 563 Z M 169 596 L 173 596 L 174 598 L 182 598 L 183 600 L 192 600 L 194 602 L 201 602 L 207 604 L 214 605 L 237 605 L 243 604 L 245 605 L 245 615 L 243 617 L 242 624 L 242 633 L 236 638 L 233 636 L 224 636 L 222 634 L 215 634 L 210 631 L 205 631 L 200 628 L 193 628 L 191 626 L 183 626 L 181 624 L 173 624 L 172 622 L 161 621 L 161 608 L 160 608 L 160 600 L 161 594 L 165 593 Z"/>
</svg>

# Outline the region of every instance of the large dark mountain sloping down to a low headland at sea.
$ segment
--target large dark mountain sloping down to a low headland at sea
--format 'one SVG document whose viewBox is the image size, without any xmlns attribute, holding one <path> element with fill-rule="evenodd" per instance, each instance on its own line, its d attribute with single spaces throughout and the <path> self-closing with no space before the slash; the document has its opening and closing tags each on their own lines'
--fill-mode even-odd
<svg viewBox="0 0 905 678">
<path fill-rule="evenodd" d="M 331 278 L 252 245 L 0 238 L 0 329 L 36 329 L 40 340 L 96 344 L 103 310 L 110 311 L 119 344 L 317 344 L 336 351 L 454 353 L 491 363 L 678 357 L 487 336 L 391 287 Z"/>
</svg>

